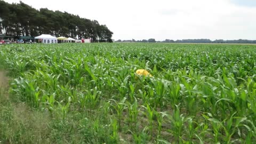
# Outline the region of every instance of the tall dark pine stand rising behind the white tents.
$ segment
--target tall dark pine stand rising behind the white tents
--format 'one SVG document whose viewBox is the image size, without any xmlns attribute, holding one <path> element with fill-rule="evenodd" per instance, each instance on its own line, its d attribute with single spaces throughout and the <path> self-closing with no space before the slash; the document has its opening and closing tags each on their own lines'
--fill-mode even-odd
<svg viewBox="0 0 256 144">
<path fill-rule="evenodd" d="M 113 32 L 97 20 L 61 11 L 36 10 L 21 1 L 9 4 L 0 0 L 0 34 L 12 37 L 51 34 L 112 42 Z"/>
</svg>

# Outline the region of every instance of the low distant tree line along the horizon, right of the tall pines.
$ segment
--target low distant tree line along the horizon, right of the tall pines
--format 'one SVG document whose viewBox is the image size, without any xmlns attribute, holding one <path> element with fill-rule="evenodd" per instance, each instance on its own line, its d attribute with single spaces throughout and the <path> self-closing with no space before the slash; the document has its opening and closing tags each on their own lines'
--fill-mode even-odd
<svg viewBox="0 0 256 144">
<path fill-rule="evenodd" d="M 182 40 L 172 40 L 172 39 L 165 39 L 164 41 L 156 41 L 154 38 L 150 39 L 142 39 L 136 41 L 135 39 L 132 40 L 121 40 L 118 39 L 116 42 L 134 42 L 134 43 L 237 43 L 237 44 L 256 44 L 256 40 L 247 40 L 247 39 L 237 39 L 237 40 L 223 40 L 223 39 L 216 39 L 211 41 L 210 39 L 182 39 Z"/>
</svg>

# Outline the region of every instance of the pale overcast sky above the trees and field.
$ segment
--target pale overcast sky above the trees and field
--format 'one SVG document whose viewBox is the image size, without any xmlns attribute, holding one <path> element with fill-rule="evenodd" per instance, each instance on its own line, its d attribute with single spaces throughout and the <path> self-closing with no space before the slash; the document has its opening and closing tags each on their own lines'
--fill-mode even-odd
<svg viewBox="0 0 256 144">
<path fill-rule="evenodd" d="M 19 3 L 20 0 L 4 0 Z M 98 20 L 117 39 L 256 39 L 256 0 L 22 0 Z"/>
</svg>

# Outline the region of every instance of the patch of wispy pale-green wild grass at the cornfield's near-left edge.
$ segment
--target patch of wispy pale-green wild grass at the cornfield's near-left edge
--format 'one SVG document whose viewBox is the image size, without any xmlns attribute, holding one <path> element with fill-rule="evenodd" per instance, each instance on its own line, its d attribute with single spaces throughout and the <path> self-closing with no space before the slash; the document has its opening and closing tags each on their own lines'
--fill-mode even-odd
<svg viewBox="0 0 256 144">
<path fill-rule="evenodd" d="M 0 144 L 50 143 L 50 115 L 9 99 L 10 78 L 6 74 L 0 70 L 0 131 L 4 130 L 0 132 Z"/>
</svg>

